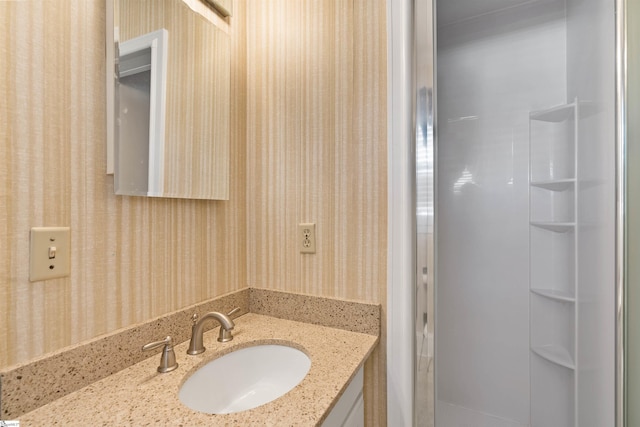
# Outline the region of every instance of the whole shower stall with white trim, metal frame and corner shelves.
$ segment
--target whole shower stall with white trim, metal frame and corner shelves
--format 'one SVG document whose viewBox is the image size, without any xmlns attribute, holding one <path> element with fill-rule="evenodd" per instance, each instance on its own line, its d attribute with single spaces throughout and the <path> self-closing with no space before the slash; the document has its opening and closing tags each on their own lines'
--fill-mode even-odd
<svg viewBox="0 0 640 427">
<path fill-rule="evenodd" d="M 390 424 L 614 426 L 616 3 L 389 5 Z"/>
</svg>

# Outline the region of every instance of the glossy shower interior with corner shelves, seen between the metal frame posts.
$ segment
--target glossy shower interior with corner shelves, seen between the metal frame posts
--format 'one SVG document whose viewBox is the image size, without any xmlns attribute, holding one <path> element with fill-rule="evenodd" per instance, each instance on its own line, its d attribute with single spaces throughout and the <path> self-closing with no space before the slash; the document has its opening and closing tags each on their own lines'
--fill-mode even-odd
<svg viewBox="0 0 640 427">
<path fill-rule="evenodd" d="M 614 4 L 436 3 L 435 425 L 613 425 Z"/>
</svg>

